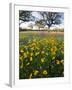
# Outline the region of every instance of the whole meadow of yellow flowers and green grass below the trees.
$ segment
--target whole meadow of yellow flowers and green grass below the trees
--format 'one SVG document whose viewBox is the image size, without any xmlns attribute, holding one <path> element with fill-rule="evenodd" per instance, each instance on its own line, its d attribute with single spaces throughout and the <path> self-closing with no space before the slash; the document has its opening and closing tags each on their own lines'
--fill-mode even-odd
<svg viewBox="0 0 72 90">
<path fill-rule="evenodd" d="M 64 76 L 64 35 L 19 34 L 19 79 Z"/>
</svg>

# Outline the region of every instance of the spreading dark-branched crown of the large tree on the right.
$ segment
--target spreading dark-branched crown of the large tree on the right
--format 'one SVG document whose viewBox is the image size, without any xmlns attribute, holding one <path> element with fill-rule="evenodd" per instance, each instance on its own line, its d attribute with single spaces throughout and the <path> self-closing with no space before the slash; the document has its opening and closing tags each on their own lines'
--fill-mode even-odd
<svg viewBox="0 0 72 90">
<path fill-rule="evenodd" d="M 59 12 L 39 12 L 42 16 L 42 21 L 45 25 L 47 25 L 49 28 L 52 25 L 58 25 L 61 24 L 61 18 L 62 14 Z"/>
</svg>

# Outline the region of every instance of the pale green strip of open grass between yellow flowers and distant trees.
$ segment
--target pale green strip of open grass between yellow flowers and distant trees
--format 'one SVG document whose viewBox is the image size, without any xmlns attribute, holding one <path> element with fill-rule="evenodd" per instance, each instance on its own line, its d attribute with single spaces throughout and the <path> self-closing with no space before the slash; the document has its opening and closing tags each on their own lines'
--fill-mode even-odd
<svg viewBox="0 0 72 90">
<path fill-rule="evenodd" d="M 28 39 L 42 40 L 43 38 L 56 38 L 58 41 L 64 40 L 64 33 L 63 32 L 47 32 L 47 31 L 23 31 L 19 33 L 19 45 L 22 43 L 26 44 Z"/>
</svg>

